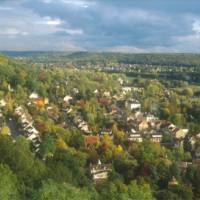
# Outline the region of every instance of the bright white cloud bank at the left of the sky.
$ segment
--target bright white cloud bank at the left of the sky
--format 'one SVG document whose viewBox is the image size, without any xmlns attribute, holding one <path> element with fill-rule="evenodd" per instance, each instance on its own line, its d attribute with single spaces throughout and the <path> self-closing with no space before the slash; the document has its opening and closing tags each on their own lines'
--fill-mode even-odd
<svg viewBox="0 0 200 200">
<path fill-rule="evenodd" d="M 40 37 L 58 32 L 66 33 L 66 37 L 70 37 L 84 33 L 82 29 L 74 28 L 68 22 L 58 17 L 41 17 L 31 10 L 21 7 L 12 11 L 0 12 L 0 19 L 0 37 L 4 38 L 6 36 L 17 37 L 27 35 Z"/>
</svg>

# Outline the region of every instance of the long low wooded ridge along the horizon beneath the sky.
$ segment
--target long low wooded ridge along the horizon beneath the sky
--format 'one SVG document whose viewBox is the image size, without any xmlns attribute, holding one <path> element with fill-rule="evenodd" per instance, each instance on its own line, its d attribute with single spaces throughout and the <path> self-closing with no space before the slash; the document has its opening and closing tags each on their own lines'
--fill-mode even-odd
<svg viewBox="0 0 200 200">
<path fill-rule="evenodd" d="M 3 51 L 2 54 L 12 57 L 25 57 L 40 62 L 73 61 L 77 64 L 152 64 L 166 66 L 200 66 L 200 54 L 123 54 L 123 53 L 90 53 L 90 52 L 37 52 L 37 51 Z"/>
</svg>

